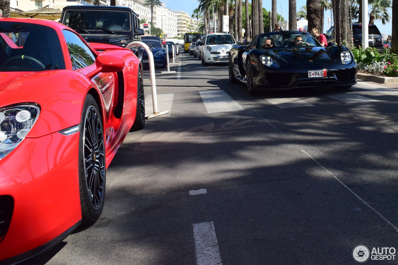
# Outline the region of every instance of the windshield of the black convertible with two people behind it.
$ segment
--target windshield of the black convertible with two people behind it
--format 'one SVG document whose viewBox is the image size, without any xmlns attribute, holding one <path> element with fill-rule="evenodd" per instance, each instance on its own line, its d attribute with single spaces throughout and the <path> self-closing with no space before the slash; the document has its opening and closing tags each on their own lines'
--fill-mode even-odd
<svg viewBox="0 0 398 265">
<path fill-rule="evenodd" d="M 271 40 L 271 47 L 266 43 Z M 286 48 L 286 47 L 322 47 L 322 45 L 309 33 L 300 31 L 274 31 L 260 35 L 256 49 Z"/>
</svg>

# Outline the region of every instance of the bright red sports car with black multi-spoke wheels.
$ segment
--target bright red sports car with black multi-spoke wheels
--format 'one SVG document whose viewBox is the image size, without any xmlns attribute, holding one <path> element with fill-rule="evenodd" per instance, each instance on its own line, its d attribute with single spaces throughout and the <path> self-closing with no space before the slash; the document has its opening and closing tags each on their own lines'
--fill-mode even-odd
<svg viewBox="0 0 398 265">
<path fill-rule="evenodd" d="M 0 264 L 100 217 L 106 168 L 144 127 L 141 69 L 58 22 L 0 18 Z"/>
</svg>

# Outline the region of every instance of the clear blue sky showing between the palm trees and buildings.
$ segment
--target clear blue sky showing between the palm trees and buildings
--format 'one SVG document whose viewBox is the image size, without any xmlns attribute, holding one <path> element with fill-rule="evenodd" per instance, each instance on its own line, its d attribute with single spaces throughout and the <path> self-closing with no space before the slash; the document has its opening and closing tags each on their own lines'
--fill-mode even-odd
<svg viewBox="0 0 398 265">
<path fill-rule="evenodd" d="M 173 11 L 183 11 L 188 14 L 192 14 L 192 11 L 197 8 L 199 5 L 199 2 L 197 0 L 161 0 L 166 4 L 167 8 L 170 8 L 170 10 Z M 251 1 L 250 1 L 251 2 Z M 304 6 L 306 4 L 306 0 L 297 0 L 297 10 L 300 9 L 300 7 Z M 282 6 L 282 8 L 281 8 Z M 288 0 L 278 0 L 278 6 L 277 6 L 277 12 L 278 14 L 282 13 L 283 18 L 287 19 L 289 16 L 289 1 Z M 271 10 L 271 0 L 263 0 L 263 8 L 266 10 Z M 326 13 L 325 13 L 326 14 Z M 391 11 L 390 11 L 391 14 Z M 330 16 L 330 11 L 329 11 L 329 16 Z M 326 17 L 326 15 L 325 15 Z M 378 29 L 380 30 L 381 33 L 384 34 L 390 34 L 391 35 L 391 22 L 387 23 L 386 25 L 382 25 L 380 21 L 375 21 L 375 24 L 377 25 Z M 328 29 L 326 28 L 326 21 L 325 21 L 325 28 L 323 32 L 326 32 Z"/>
</svg>

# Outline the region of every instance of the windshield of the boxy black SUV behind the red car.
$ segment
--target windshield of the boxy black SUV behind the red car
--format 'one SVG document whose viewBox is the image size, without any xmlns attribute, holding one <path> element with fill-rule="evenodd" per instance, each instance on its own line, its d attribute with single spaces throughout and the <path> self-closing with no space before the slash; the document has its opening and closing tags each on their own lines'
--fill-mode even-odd
<svg viewBox="0 0 398 265">
<path fill-rule="evenodd" d="M 130 14 L 125 11 L 111 10 L 67 10 L 64 21 L 72 29 L 80 31 L 107 29 L 107 33 L 113 31 L 130 31 Z"/>
</svg>

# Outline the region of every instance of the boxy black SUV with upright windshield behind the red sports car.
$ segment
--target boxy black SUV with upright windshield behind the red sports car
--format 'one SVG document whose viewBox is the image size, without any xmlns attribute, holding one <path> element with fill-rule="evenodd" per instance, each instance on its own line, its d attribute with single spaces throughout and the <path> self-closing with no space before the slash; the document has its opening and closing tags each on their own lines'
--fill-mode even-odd
<svg viewBox="0 0 398 265">
<path fill-rule="evenodd" d="M 122 6 L 66 6 L 60 22 L 74 29 L 87 42 L 126 47 L 144 35 L 138 15 L 131 8 Z"/>
</svg>

